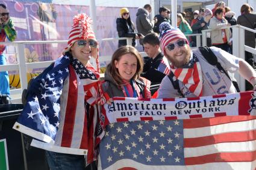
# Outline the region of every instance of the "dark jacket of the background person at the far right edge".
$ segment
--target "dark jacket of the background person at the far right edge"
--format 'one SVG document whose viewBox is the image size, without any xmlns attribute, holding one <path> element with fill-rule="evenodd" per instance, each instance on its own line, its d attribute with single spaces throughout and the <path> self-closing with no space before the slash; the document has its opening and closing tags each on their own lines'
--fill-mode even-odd
<svg viewBox="0 0 256 170">
<path fill-rule="evenodd" d="M 248 19 L 246 19 L 246 17 Z M 256 22 L 256 14 L 252 14 L 252 13 L 243 14 L 237 18 L 237 24 L 246 26 L 247 28 L 251 28 L 251 29 L 254 29 L 252 28 L 252 26 L 254 25 L 255 22 Z M 253 32 L 245 30 L 245 44 L 246 46 L 255 48 L 255 37 Z"/>
</svg>

